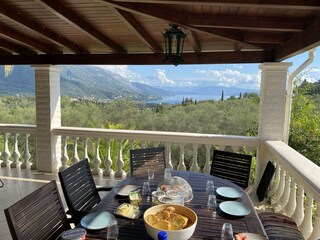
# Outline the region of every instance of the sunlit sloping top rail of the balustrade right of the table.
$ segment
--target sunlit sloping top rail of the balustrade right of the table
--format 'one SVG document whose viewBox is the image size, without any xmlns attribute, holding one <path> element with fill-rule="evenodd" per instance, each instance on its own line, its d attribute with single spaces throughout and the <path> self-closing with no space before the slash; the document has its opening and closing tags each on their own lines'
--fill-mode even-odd
<svg viewBox="0 0 320 240">
<path fill-rule="evenodd" d="M 320 201 L 320 167 L 282 141 L 266 141 L 265 144 L 295 182 Z"/>
</svg>

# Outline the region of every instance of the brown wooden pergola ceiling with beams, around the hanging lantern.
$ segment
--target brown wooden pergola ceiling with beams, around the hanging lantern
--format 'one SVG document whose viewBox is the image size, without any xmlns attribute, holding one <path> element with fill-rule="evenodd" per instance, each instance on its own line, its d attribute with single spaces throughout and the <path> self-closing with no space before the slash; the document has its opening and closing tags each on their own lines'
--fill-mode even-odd
<svg viewBox="0 0 320 240">
<path fill-rule="evenodd" d="M 169 24 L 185 64 L 282 61 L 319 45 L 320 1 L 1 0 L 0 64 L 166 64 Z"/>
</svg>

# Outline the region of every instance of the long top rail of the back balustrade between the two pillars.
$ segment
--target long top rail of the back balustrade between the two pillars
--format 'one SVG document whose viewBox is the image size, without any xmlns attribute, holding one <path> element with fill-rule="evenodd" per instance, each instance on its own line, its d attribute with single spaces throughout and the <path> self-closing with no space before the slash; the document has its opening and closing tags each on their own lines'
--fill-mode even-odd
<svg viewBox="0 0 320 240">
<path fill-rule="evenodd" d="M 234 135 L 76 127 L 59 127 L 53 129 L 52 132 L 54 135 L 69 137 L 97 137 L 106 139 L 129 139 L 157 142 L 195 143 L 246 147 L 259 147 L 260 145 L 260 138 L 258 137 Z"/>
</svg>

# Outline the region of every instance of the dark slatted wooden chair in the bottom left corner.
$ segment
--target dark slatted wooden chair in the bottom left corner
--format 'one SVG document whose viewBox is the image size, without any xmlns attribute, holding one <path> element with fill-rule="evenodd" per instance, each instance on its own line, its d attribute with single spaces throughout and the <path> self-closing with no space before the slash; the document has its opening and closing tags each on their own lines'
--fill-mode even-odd
<svg viewBox="0 0 320 240">
<path fill-rule="evenodd" d="M 4 210 L 13 240 L 51 240 L 70 229 L 56 181 Z"/>
</svg>

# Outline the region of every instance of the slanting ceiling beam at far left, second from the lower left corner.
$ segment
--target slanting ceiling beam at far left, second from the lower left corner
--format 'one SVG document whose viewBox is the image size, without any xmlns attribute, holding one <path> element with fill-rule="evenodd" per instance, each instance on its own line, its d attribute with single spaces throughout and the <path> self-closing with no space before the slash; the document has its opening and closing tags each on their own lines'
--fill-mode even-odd
<svg viewBox="0 0 320 240">
<path fill-rule="evenodd" d="M 6 25 L 0 23 L 0 35 L 6 38 L 12 39 L 14 42 L 19 42 L 23 45 L 28 45 L 43 53 L 62 53 L 61 51 L 55 49 L 52 46 L 44 44 L 35 38 L 31 38 L 22 33 L 16 32 L 15 30 L 7 27 Z"/>
</svg>

